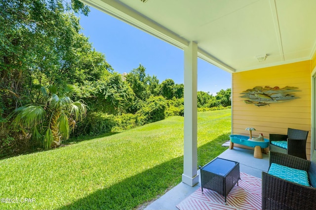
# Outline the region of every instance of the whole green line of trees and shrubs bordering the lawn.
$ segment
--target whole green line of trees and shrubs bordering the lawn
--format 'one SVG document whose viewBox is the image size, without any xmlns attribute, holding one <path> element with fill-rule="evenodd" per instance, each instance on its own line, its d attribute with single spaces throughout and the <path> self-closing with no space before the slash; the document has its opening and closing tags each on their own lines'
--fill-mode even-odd
<svg viewBox="0 0 316 210">
<path fill-rule="evenodd" d="M 183 84 L 160 83 L 141 64 L 119 74 L 80 33 L 75 13 L 89 7 L 0 0 L 0 157 L 183 116 Z M 230 95 L 198 91 L 198 108 L 229 107 Z"/>
</svg>

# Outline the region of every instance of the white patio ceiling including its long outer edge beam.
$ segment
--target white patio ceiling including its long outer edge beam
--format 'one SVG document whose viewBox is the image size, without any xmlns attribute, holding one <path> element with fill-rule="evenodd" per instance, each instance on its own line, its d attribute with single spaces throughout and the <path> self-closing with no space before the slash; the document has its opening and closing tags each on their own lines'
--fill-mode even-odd
<svg viewBox="0 0 316 210">
<path fill-rule="evenodd" d="M 229 72 L 311 60 L 316 50 L 316 0 L 82 1 L 181 49 L 195 41 L 199 58 Z"/>
</svg>

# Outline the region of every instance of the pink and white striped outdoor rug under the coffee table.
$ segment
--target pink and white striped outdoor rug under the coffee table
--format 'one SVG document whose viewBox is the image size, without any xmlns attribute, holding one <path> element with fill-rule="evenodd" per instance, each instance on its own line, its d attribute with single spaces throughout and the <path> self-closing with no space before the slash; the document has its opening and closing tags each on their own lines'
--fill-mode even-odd
<svg viewBox="0 0 316 210">
<path fill-rule="evenodd" d="M 179 210 L 261 210 L 261 179 L 240 173 L 239 186 L 237 184 L 227 196 L 201 188 L 177 205 Z"/>
</svg>

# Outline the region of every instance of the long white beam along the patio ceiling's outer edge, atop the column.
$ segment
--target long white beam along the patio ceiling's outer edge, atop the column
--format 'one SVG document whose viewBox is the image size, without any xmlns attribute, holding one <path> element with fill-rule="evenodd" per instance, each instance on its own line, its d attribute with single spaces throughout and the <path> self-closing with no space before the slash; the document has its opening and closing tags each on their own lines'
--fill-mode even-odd
<svg viewBox="0 0 316 210">
<path fill-rule="evenodd" d="M 105 12 L 135 28 L 143 30 L 175 47 L 184 50 L 189 46 L 189 41 L 183 37 L 173 33 L 170 30 L 158 25 L 156 22 L 140 15 L 135 10 L 126 6 L 123 3 L 118 3 L 115 0 L 80 0 L 102 12 Z M 194 40 L 192 40 L 194 41 Z M 197 43 L 198 44 L 198 43 Z M 225 71 L 230 73 L 235 72 L 235 69 L 221 60 L 216 59 L 204 50 L 198 48 L 198 58 L 205 60 Z"/>
</svg>

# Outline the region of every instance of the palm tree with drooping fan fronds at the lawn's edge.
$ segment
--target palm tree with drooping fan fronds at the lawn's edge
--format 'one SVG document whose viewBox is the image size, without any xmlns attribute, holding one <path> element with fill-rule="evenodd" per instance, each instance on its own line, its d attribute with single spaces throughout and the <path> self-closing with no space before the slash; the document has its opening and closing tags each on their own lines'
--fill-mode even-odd
<svg viewBox="0 0 316 210">
<path fill-rule="evenodd" d="M 22 130 L 30 129 L 32 138 L 41 141 L 46 149 L 59 147 L 62 139 L 69 138 L 70 127 L 74 128 L 85 116 L 86 105 L 82 100 L 74 102 L 69 97 L 75 90 L 73 86 L 59 89 L 50 86 L 41 90 L 47 99 L 45 103 L 16 109 L 13 123 Z"/>
</svg>

